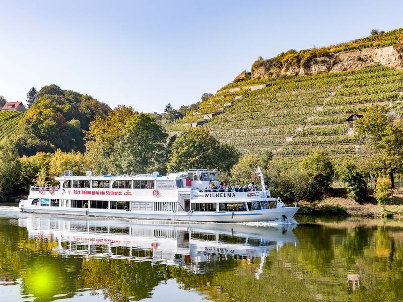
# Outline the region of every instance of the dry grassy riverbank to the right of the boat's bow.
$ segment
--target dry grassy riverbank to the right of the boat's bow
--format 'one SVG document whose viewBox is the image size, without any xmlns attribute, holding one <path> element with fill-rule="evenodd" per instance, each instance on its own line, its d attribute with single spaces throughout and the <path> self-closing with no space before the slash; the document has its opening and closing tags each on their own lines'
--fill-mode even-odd
<svg viewBox="0 0 403 302">
<path fill-rule="evenodd" d="M 332 188 L 329 194 L 321 201 L 301 202 L 298 211 L 299 215 L 338 215 L 338 216 L 357 216 L 357 217 L 379 217 L 382 216 L 383 206 L 378 205 L 372 197 L 373 189 L 368 189 L 368 201 L 359 204 L 347 197 L 347 190 L 344 188 Z M 403 213 L 403 190 L 395 189 L 393 201 L 386 206 L 388 211 Z M 403 217 L 393 215 L 394 217 Z"/>
</svg>

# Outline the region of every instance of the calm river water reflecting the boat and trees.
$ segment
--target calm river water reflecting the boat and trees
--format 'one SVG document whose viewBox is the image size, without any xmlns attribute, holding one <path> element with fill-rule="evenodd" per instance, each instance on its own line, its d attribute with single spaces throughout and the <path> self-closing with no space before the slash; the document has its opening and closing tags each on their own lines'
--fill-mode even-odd
<svg viewBox="0 0 403 302">
<path fill-rule="evenodd" d="M 403 300 L 403 221 L 297 220 L 173 224 L 0 206 L 0 300 Z"/>
</svg>

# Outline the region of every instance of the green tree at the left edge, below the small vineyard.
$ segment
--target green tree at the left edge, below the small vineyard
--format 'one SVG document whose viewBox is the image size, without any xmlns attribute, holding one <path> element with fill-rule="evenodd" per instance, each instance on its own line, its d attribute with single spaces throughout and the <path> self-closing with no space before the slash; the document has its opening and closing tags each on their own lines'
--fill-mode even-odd
<svg viewBox="0 0 403 302">
<path fill-rule="evenodd" d="M 13 193 L 20 174 L 20 159 L 15 146 L 8 139 L 0 142 L 0 199 Z"/>
</svg>

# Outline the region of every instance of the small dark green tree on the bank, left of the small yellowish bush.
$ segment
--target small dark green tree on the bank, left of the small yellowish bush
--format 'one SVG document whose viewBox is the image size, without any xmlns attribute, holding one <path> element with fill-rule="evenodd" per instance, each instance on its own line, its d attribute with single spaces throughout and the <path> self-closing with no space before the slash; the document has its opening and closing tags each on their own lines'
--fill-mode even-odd
<svg viewBox="0 0 403 302">
<path fill-rule="evenodd" d="M 341 171 L 341 180 L 347 183 L 348 197 L 355 202 L 363 204 L 367 195 L 367 182 L 363 173 L 354 163 L 348 162 Z"/>
</svg>

